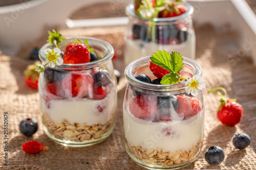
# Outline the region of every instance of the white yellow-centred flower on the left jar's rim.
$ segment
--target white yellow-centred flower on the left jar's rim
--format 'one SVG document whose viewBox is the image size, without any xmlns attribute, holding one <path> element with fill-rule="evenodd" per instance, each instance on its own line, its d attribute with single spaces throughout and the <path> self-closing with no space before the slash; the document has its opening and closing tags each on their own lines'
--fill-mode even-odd
<svg viewBox="0 0 256 170">
<path fill-rule="evenodd" d="M 61 65 L 63 64 L 63 59 L 60 56 L 60 49 L 55 47 L 52 50 L 50 48 L 47 48 L 45 50 L 46 55 L 46 63 L 49 63 L 49 66 L 54 68 L 55 65 Z"/>
</svg>

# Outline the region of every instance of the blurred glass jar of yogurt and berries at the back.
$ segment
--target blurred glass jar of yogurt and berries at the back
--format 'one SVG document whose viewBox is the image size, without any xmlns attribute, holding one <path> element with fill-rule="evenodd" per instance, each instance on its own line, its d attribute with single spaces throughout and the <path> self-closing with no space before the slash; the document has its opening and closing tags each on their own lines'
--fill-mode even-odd
<svg viewBox="0 0 256 170">
<path fill-rule="evenodd" d="M 184 5 L 186 12 L 179 16 L 151 20 L 138 17 L 133 3 L 126 7 L 129 23 L 125 33 L 125 65 L 158 50 L 176 51 L 195 59 L 196 36 L 191 19 L 194 9 L 188 3 Z"/>
</svg>

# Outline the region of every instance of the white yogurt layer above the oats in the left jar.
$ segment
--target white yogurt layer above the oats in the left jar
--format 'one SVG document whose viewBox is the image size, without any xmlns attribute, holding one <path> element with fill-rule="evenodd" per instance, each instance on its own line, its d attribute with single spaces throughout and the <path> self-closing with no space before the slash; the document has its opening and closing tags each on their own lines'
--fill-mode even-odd
<svg viewBox="0 0 256 170">
<path fill-rule="evenodd" d="M 115 93 L 115 90 L 110 91 L 103 100 L 75 98 L 51 100 L 49 108 L 44 98 L 40 96 L 40 107 L 42 113 L 48 113 L 55 123 L 61 123 L 66 119 L 71 124 L 103 125 L 111 119 L 112 114 L 116 111 L 117 96 Z"/>
</svg>

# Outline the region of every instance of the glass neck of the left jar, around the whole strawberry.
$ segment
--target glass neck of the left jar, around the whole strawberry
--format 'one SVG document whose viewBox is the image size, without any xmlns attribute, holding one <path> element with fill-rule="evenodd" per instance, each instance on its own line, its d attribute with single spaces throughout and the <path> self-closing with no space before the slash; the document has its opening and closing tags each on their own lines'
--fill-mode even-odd
<svg viewBox="0 0 256 170">
<path fill-rule="evenodd" d="M 98 38 L 92 38 L 92 37 L 67 37 L 65 40 L 62 40 L 62 42 L 59 44 L 59 48 L 62 51 L 65 51 L 66 45 L 70 42 L 74 42 L 74 40 L 79 39 L 83 41 L 84 39 L 88 40 L 88 44 L 95 50 L 99 51 L 102 55 L 102 58 L 96 61 L 92 61 L 89 63 L 80 63 L 80 64 L 65 64 L 57 65 L 55 66 L 55 69 L 68 69 L 68 70 L 79 70 L 79 69 L 89 69 L 93 68 L 99 65 L 102 65 L 108 61 L 111 61 L 111 59 L 114 56 L 114 48 L 112 45 L 106 41 L 103 41 Z M 46 43 L 44 46 L 42 46 L 39 50 L 39 59 L 42 61 L 42 63 L 45 63 L 46 61 L 46 55 L 44 53 L 46 48 L 53 48 L 53 45 L 50 43 Z"/>
</svg>

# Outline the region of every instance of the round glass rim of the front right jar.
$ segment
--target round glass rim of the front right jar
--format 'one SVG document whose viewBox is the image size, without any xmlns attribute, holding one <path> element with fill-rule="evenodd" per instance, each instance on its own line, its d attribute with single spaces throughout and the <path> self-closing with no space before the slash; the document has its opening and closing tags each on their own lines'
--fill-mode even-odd
<svg viewBox="0 0 256 170">
<path fill-rule="evenodd" d="M 151 61 L 150 57 L 151 56 L 142 57 L 140 59 L 137 59 L 137 60 L 131 62 L 129 65 L 126 66 L 126 68 L 124 70 L 124 76 L 126 77 L 128 82 L 132 83 L 133 85 L 135 85 L 137 87 L 147 89 L 147 90 L 154 90 L 154 91 L 163 91 L 163 90 L 176 91 L 176 90 L 182 90 L 185 88 L 185 82 L 181 82 L 178 84 L 158 85 L 158 84 L 145 83 L 145 82 L 138 81 L 137 79 L 135 79 L 135 77 L 132 74 L 132 71 L 134 70 L 134 68 L 136 68 L 142 64 L 145 64 L 145 63 L 150 63 L 150 61 Z M 194 75 L 202 76 L 202 68 L 196 61 L 186 58 L 186 57 L 182 57 L 182 58 L 183 58 L 183 63 L 194 70 L 194 72 L 195 72 Z"/>
</svg>

